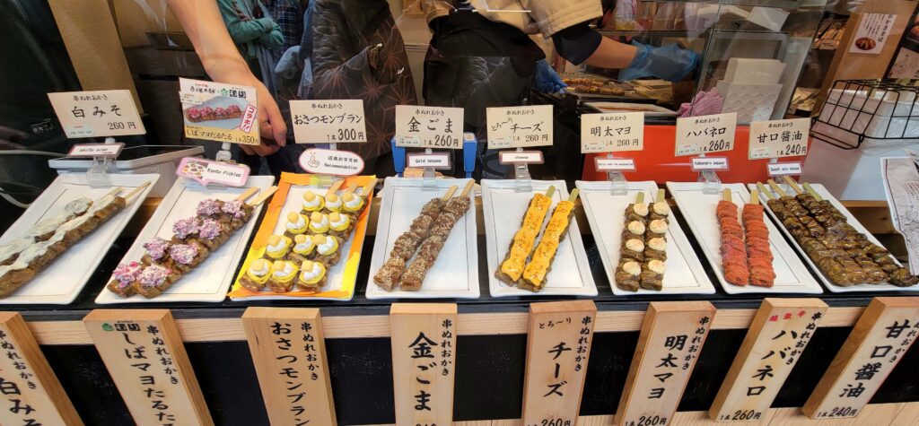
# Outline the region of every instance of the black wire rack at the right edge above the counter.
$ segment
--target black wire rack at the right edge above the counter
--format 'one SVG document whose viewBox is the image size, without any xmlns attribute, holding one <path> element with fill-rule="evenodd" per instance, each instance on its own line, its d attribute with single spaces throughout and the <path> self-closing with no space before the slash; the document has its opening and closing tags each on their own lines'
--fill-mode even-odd
<svg viewBox="0 0 919 426">
<path fill-rule="evenodd" d="M 811 137 L 844 150 L 865 140 L 919 141 L 919 81 L 835 81 Z"/>
</svg>

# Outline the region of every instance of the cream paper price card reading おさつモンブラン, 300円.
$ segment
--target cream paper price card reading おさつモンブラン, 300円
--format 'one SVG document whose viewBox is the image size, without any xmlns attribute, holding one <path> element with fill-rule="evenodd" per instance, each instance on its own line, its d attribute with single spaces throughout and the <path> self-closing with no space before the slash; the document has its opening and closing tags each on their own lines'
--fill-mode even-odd
<svg viewBox="0 0 919 426">
<path fill-rule="evenodd" d="M 297 143 L 366 142 L 363 99 L 290 101 Z"/>
</svg>

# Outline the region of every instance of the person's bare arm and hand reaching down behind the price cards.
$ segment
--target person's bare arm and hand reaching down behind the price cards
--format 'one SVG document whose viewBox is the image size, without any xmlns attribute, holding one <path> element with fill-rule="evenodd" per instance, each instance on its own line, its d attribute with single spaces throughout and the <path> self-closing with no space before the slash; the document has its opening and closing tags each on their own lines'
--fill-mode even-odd
<svg viewBox="0 0 919 426">
<path fill-rule="evenodd" d="M 255 87 L 258 99 L 259 128 L 263 139 L 274 140 L 275 146 L 266 144 L 240 145 L 244 151 L 268 155 L 278 151 L 287 140 L 287 125 L 278 104 L 265 84 L 258 81 L 249 65 L 240 56 L 223 24 L 223 18 L 214 0 L 167 0 L 173 14 L 185 29 L 188 39 L 204 65 L 204 70 L 215 82 L 241 84 Z"/>
</svg>

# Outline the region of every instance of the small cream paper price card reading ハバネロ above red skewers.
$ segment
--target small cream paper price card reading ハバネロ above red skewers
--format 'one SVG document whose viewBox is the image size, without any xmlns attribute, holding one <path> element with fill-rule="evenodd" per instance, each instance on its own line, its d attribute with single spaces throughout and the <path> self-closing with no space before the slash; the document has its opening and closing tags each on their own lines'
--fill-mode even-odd
<svg viewBox="0 0 919 426">
<path fill-rule="evenodd" d="M 676 118 L 676 156 L 732 151 L 737 113 Z"/>
</svg>

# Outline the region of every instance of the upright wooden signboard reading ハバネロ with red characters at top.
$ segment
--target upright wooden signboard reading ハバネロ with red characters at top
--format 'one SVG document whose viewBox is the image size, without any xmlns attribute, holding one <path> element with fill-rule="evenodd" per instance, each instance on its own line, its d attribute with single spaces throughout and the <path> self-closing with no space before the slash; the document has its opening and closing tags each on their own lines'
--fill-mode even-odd
<svg viewBox="0 0 919 426">
<path fill-rule="evenodd" d="M 826 308 L 817 298 L 764 299 L 709 409 L 711 419 L 764 420 Z"/>
</svg>

